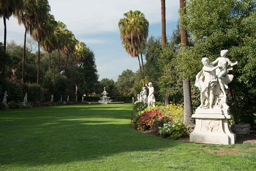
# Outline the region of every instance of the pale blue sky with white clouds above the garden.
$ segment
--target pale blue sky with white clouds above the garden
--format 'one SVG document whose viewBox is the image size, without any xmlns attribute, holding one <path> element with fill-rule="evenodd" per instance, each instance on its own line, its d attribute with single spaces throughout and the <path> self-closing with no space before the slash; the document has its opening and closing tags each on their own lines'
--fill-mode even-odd
<svg viewBox="0 0 256 171">
<path fill-rule="evenodd" d="M 118 21 L 129 10 L 140 10 L 149 21 L 149 36 L 161 36 L 160 0 L 48 0 L 55 20 L 67 25 L 75 37 L 85 42 L 96 57 L 100 80 L 117 80 L 123 70 L 137 71 L 138 59 L 130 57 L 121 44 Z M 178 20 L 178 0 L 166 0 L 166 34 L 171 35 Z M 70 15 L 72 14 L 72 15 Z M 3 41 L 3 24 L 0 25 L 0 41 Z M 29 37 L 29 36 L 28 36 Z M 7 41 L 23 43 L 24 27 L 13 17 L 7 21 Z M 144 60 L 145 62 L 145 60 Z"/>
</svg>

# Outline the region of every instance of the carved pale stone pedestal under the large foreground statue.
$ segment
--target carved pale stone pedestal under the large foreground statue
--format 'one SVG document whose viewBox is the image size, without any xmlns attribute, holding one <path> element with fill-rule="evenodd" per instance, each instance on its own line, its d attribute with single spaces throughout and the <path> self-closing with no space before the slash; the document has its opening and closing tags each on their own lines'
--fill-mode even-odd
<svg viewBox="0 0 256 171">
<path fill-rule="evenodd" d="M 209 114 L 209 112 L 213 114 Z M 218 114 L 217 114 L 218 113 Z M 189 135 L 189 141 L 207 144 L 234 144 L 236 134 L 229 126 L 231 115 L 229 111 L 197 109 L 192 118 L 195 118 L 195 129 Z"/>
</svg>

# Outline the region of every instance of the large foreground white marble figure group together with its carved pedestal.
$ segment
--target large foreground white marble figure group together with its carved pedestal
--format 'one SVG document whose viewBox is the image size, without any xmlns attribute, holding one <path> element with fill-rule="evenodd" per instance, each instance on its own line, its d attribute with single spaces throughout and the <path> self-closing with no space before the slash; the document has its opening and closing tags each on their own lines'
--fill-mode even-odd
<svg viewBox="0 0 256 171">
<path fill-rule="evenodd" d="M 226 56 L 228 50 L 220 51 L 220 57 L 209 62 L 202 59 L 203 68 L 196 75 L 195 86 L 200 90 L 200 106 L 192 118 L 195 118 L 195 129 L 189 134 L 189 141 L 209 144 L 234 144 L 236 134 L 230 129 L 232 118 L 227 105 L 225 89 L 233 80 L 229 74 L 237 61 L 232 63 Z M 214 66 L 216 64 L 216 66 Z"/>
</svg>

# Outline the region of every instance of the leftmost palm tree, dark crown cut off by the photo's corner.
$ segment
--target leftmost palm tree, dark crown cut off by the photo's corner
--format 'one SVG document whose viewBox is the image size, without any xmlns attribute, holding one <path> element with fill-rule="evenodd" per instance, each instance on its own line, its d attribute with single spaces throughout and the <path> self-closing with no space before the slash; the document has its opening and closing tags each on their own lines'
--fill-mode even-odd
<svg viewBox="0 0 256 171">
<path fill-rule="evenodd" d="M 3 17 L 4 22 L 4 44 L 3 44 L 3 50 L 4 53 L 6 51 L 6 19 L 9 20 L 11 15 L 16 10 L 21 9 L 23 6 L 23 0 L 0 0 L 0 18 Z M 5 76 L 5 58 L 3 56 L 3 64 L 2 64 L 2 76 Z"/>
</svg>

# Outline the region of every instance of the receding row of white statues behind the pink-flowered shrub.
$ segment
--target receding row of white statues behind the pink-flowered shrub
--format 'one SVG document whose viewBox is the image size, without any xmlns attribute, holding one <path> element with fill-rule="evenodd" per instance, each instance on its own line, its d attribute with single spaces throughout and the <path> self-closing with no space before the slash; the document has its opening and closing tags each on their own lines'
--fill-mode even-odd
<svg viewBox="0 0 256 171">
<path fill-rule="evenodd" d="M 148 88 L 148 96 L 146 87 Z M 145 105 L 147 104 L 149 108 L 154 107 L 156 102 L 154 96 L 154 87 L 152 86 L 151 82 L 148 83 L 148 85 L 146 84 L 146 87 L 143 87 L 140 94 L 137 94 L 137 102 L 143 102 Z"/>
</svg>

